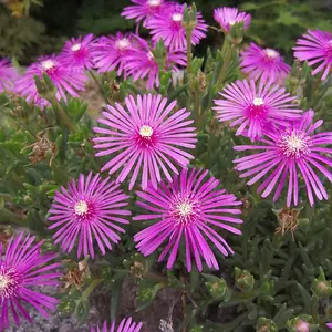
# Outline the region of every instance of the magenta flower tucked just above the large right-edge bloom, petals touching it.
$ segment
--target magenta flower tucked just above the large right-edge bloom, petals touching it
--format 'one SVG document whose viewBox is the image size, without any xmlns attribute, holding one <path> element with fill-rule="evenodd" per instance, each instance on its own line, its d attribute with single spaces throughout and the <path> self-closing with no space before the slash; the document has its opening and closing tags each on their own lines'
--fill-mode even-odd
<svg viewBox="0 0 332 332">
<path fill-rule="evenodd" d="M 220 95 L 225 100 L 215 100 L 220 122 L 231 121 L 230 126 L 239 126 L 236 135 L 248 129 L 248 136 L 253 141 L 260 138 L 262 129 L 269 123 L 283 124 L 286 121 L 299 117 L 301 110 L 295 108 L 284 89 L 270 83 L 255 81 L 237 81 L 226 85 Z"/>
</svg>

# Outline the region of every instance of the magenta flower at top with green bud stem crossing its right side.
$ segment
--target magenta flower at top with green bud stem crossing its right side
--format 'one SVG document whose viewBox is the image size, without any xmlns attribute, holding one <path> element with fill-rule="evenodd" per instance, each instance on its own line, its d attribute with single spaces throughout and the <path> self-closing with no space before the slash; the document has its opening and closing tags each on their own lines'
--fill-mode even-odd
<svg viewBox="0 0 332 332">
<path fill-rule="evenodd" d="M 170 50 L 187 48 L 186 28 L 183 25 L 184 6 L 172 6 L 159 15 L 151 18 L 146 28 L 151 30 L 152 40 L 158 42 L 160 39 Z M 205 24 L 201 14 L 197 13 L 197 23 L 193 30 L 191 44 L 197 45 L 206 37 L 208 25 Z"/>
</svg>

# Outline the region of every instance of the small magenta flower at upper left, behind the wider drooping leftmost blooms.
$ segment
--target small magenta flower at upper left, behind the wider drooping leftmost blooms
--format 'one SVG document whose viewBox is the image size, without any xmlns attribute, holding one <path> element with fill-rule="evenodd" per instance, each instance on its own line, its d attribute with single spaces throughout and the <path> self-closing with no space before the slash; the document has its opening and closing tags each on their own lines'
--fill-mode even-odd
<svg viewBox="0 0 332 332">
<path fill-rule="evenodd" d="M 72 38 L 66 41 L 59 59 L 68 65 L 93 69 L 92 51 L 94 35 L 92 33 L 85 37 Z"/>
</svg>

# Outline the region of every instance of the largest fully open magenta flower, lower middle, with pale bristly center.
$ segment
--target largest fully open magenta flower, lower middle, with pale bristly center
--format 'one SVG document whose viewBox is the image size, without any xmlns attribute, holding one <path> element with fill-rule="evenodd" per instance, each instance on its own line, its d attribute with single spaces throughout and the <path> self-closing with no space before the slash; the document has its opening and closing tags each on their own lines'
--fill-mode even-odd
<svg viewBox="0 0 332 332">
<path fill-rule="evenodd" d="M 173 183 L 162 183 L 158 189 L 148 186 L 145 191 L 137 191 L 137 205 L 151 211 L 138 215 L 134 220 L 156 220 L 153 226 L 135 235 L 136 248 L 148 256 L 159 248 L 164 241 L 159 260 L 169 253 L 167 268 L 175 263 L 181 238 L 186 243 L 186 266 L 191 271 L 191 256 L 199 271 L 203 270 L 201 257 L 209 268 L 218 269 L 218 262 L 206 239 L 209 239 L 225 256 L 234 253 L 226 240 L 215 230 L 215 227 L 240 235 L 241 231 L 230 224 L 241 224 L 242 220 L 228 215 L 240 215 L 235 206 L 241 205 L 235 195 L 226 194 L 225 189 L 216 189 L 219 180 L 211 177 L 204 180 L 208 170 L 183 169 L 179 176 L 174 176 Z"/>
</svg>

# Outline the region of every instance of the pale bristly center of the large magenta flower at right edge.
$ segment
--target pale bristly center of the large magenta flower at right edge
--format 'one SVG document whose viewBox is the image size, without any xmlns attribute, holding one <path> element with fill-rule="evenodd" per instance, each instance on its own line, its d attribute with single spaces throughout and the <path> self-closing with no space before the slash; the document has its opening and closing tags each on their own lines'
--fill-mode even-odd
<svg viewBox="0 0 332 332">
<path fill-rule="evenodd" d="M 287 157 L 299 158 L 310 153 L 310 137 L 303 132 L 292 132 L 280 138 L 279 147 Z"/>
</svg>

